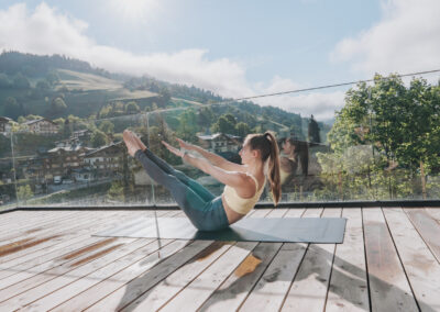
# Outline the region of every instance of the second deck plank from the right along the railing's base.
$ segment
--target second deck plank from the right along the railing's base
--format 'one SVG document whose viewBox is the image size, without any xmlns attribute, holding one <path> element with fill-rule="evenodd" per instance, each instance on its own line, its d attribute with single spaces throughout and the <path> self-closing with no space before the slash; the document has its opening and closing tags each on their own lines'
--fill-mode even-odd
<svg viewBox="0 0 440 312">
<path fill-rule="evenodd" d="M 440 224 L 425 209 L 405 209 L 405 212 L 440 263 Z"/>
</svg>

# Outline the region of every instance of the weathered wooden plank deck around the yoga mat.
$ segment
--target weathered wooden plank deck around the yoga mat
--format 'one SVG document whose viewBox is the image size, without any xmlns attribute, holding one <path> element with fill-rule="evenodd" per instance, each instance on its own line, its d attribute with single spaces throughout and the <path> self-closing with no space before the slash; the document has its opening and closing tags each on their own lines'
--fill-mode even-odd
<svg viewBox="0 0 440 312">
<path fill-rule="evenodd" d="M 344 216 L 338 245 L 90 235 L 153 213 L 1 214 L 0 311 L 440 311 L 439 208 L 248 216 Z"/>
</svg>

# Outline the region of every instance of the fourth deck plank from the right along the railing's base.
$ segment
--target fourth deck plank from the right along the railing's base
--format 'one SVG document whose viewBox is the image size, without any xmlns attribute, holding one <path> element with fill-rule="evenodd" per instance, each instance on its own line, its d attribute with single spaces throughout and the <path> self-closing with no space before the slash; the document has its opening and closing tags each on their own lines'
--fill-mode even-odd
<svg viewBox="0 0 440 312">
<path fill-rule="evenodd" d="M 380 208 L 362 209 L 373 311 L 417 311 L 397 250 Z"/>
</svg>

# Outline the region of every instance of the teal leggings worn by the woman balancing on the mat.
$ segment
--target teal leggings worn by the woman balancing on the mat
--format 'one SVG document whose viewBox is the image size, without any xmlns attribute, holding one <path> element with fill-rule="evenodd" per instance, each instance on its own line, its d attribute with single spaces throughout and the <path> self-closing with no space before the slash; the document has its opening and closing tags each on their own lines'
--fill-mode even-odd
<svg viewBox="0 0 440 312">
<path fill-rule="evenodd" d="M 148 176 L 164 186 L 200 231 L 217 231 L 229 226 L 221 197 L 215 197 L 204 186 L 174 169 L 150 149 L 139 149 L 134 157 L 141 161 Z"/>
</svg>

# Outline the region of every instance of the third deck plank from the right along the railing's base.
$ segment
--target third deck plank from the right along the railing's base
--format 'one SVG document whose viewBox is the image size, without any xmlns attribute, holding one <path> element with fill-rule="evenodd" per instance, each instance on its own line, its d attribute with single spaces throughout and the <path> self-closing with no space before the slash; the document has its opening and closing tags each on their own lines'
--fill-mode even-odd
<svg viewBox="0 0 440 312">
<path fill-rule="evenodd" d="M 400 208 L 383 212 L 420 310 L 440 311 L 440 264 Z"/>
</svg>

